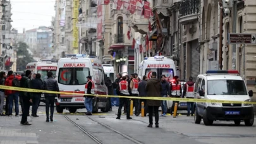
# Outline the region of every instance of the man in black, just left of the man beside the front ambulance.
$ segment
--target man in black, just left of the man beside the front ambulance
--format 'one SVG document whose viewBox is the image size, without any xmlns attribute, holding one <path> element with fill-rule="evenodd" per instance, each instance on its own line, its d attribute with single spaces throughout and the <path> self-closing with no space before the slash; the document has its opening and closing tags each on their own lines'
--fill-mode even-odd
<svg viewBox="0 0 256 144">
<path fill-rule="evenodd" d="M 31 86 L 33 89 L 42 90 L 43 87 L 43 81 L 41 80 L 41 75 L 37 73 L 35 75 L 35 79 L 31 81 Z M 39 107 L 40 99 L 41 99 L 42 93 L 33 93 L 33 104 L 32 104 L 32 116 L 37 116 L 37 109 Z"/>
</svg>

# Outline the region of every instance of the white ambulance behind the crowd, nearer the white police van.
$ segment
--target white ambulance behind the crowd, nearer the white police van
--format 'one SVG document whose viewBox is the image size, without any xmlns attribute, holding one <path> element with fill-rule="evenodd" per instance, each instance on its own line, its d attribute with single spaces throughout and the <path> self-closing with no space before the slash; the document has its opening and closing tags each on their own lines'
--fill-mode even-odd
<svg viewBox="0 0 256 144">
<path fill-rule="evenodd" d="M 157 73 L 157 78 L 165 75 L 167 81 L 173 80 L 173 77 L 176 75 L 174 61 L 164 56 L 147 57 L 140 63 L 138 76 L 143 78 L 143 75 L 146 75 L 150 78 L 152 72 Z"/>
</svg>

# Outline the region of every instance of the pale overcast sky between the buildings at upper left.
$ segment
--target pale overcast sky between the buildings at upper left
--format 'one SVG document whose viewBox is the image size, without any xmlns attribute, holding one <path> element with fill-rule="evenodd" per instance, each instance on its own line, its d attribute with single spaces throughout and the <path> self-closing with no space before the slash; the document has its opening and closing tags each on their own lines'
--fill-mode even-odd
<svg viewBox="0 0 256 144">
<path fill-rule="evenodd" d="M 18 33 L 39 26 L 51 26 L 52 16 L 55 16 L 54 4 L 56 0 L 9 0 L 11 1 L 12 28 Z"/>
</svg>

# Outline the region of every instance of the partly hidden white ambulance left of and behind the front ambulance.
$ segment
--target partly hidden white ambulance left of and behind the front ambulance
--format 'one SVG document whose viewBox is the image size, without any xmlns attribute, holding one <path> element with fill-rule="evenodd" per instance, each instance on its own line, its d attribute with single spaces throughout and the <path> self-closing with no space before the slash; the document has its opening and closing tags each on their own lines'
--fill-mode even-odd
<svg viewBox="0 0 256 144">
<path fill-rule="evenodd" d="M 32 72 L 32 75 L 34 73 L 40 73 L 41 79 L 45 80 L 47 78 L 48 71 L 51 71 L 53 74 L 53 77 L 55 78 L 57 66 L 58 66 L 58 63 L 52 63 L 51 60 L 33 61 L 27 64 L 26 70 L 30 70 Z M 40 102 L 46 102 L 46 99 L 44 98 L 44 94 L 42 94 Z"/>
</svg>

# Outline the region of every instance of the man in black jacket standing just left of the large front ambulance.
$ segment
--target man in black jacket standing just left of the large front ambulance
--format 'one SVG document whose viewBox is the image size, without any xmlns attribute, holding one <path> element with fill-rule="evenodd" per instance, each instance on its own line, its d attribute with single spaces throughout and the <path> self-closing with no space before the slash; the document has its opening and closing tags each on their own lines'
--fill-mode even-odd
<svg viewBox="0 0 256 144">
<path fill-rule="evenodd" d="M 52 72 L 49 71 L 47 73 L 47 79 L 44 80 L 44 90 L 50 90 L 54 92 L 59 92 L 58 83 L 52 77 Z M 54 112 L 54 99 L 57 94 L 54 93 L 45 93 L 44 96 L 46 98 L 46 122 L 49 122 L 49 107 L 51 107 L 51 116 L 50 119 L 53 121 L 53 112 Z M 58 94 L 58 98 L 60 95 Z"/>
</svg>

